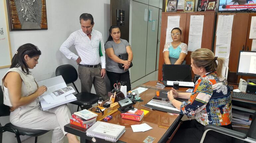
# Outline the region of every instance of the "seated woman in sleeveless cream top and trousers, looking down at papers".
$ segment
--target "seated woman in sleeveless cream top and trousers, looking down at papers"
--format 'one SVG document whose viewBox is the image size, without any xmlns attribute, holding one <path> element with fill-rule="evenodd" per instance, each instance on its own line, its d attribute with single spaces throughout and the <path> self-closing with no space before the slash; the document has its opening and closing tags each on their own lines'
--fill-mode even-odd
<svg viewBox="0 0 256 143">
<path fill-rule="evenodd" d="M 2 79 L 4 104 L 11 108 L 10 122 L 23 128 L 53 129 L 52 143 L 63 143 L 64 135 L 69 143 L 80 143 L 75 135 L 64 131 L 64 125 L 71 119 L 66 104 L 42 111 L 38 97 L 47 91 L 47 87 L 38 87 L 29 71 L 38 64 L 40 55 L 41 51 L 33 44 L 20 46 Z"/>
</svg>

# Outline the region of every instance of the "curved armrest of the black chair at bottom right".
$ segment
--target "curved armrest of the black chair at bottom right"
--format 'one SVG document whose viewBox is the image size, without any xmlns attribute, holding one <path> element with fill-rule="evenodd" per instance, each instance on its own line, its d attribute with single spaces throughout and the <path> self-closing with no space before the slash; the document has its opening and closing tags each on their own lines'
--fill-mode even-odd
<svg viewBox="0 0 256 143">
<path fill-rule="evenodd" d="M 214 130 L 214 131 L 217 131 L 217 132 L 229 135 L 229 136 L 233 136 L 236 138 L 240 138 L 240 139 L 245 139 L 247 137 L 246 134 L 244 134 L 244 133 L 241 133 L 241 132 L 238 132 L 235 130 L 231 130 L 228 128 L 224 128 L 222 126 L 217 126 L 217 125 L 206 125 L 204 127 L 204 129 L 205 129 L 205 131 L 206 130 Z"/>
</svg>

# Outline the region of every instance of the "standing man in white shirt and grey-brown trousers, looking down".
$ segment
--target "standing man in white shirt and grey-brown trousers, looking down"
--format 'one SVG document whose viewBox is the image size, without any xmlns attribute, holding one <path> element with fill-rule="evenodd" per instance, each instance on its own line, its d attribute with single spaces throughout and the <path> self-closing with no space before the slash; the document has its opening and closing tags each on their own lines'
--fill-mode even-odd
<svg viewBox="0 0 256 143">
<path fill-rule="evenodd" d="M 81 29 L 69 35 L 61 45 L 60 51 L 78 64 L 81 91 L 91 92 L 93 84 L 96 94 L 106 100 L 107 90 L 104 82 L 106 59 L 102 34 L 92 29 L 94 21 L 91 14 L 81 14 L 79 20 Z M 72 45 L 75 46 L 78 55 L 69 50 Z"/>
</svg>

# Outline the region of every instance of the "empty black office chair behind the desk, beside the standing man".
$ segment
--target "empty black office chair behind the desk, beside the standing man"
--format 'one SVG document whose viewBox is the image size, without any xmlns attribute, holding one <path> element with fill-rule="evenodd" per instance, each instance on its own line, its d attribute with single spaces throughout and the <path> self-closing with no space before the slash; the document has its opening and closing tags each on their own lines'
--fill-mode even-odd
<svg viewBox="0 0 256 143">
<path fill-rule="evenodd" d="M 74 82 L 77 80 L 78 75 L 76 72 L 76 69 L 70 65 L 65 64 L 57 67 L 55 71 L 56 76 L 62 75 L 64 81 L 66 84 L 72 83 L 77 94 L 75 94 L 76 101 L 70 102 L 71 104 L 78 105 L 77 111 L 79 110 L 79 107 L 81 110 L 83 109 L 89 109 L 92 107 L 93 104 L 97 103 L 99 100 L 99 95 L 93 94 L 93 93 L 87 93 L 87 92 L 78 92 Z"/>
</svg>

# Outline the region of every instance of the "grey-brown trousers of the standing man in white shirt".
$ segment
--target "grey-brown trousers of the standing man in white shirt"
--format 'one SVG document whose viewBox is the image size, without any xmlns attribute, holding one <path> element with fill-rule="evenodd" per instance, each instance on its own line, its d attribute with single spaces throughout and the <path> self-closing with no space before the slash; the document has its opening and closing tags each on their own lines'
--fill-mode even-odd
<svg viewBox="0 0 256 143">
<path fill-rule="evenodd" d="M 92 84 L 97 95 L 100 95 L 104 100 L 107 99 L 107 89 L 104 79 L 101 78 L 101 66 L 96 68 L 78 66 L 78 76 L 81 80 L 81 91 L 91 92 Z"/>
</svg>

